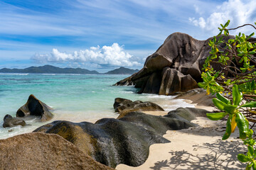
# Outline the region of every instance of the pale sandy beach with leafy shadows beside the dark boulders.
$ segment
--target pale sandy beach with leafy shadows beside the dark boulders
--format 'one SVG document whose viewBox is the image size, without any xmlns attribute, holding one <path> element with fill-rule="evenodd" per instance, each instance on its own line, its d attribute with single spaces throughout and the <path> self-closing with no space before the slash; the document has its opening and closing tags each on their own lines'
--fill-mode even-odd
<svg viewBox="0 0 256 170">
<path fill-rule="evenodd" d="M 213 111 L 211 106 L 194 106 Z M 144 113 L 164 115 L 158 111 Z M 198 127 L 168 130 L 164 138 L 171 142 L 151 145 L 149 157 L 141 166 L 119 164 L 116 169 L 245 169 L 246 165 L 237 159 L 237 154 L 247 149 L 242 145 L 242 140 L 238 139 L 238 130 L 228 140 L 223 141 L 221 138 L 225 132 L 225 121 L 198 117 L 191 122 Z"/>
</svg>

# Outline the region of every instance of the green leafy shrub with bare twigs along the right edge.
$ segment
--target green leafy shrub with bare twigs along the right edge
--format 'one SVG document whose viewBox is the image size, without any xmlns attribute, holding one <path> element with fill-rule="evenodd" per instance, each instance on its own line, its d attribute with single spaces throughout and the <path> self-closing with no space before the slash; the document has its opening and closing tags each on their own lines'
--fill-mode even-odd
<svg viewBox="0 0 256 170">
<path fill-rule="evenodd" d="M 252 40 L 255 33 L 249 36 L 239 33 L 230 37 L 229 30 L 243 26 L 228 29 L 229 23 L 230 21 L 220 24 L 220 33 L 208 42 L 210 55 L 203 64 L 203 82 L 198 83 L 198 86 L 206 89 L 207 95 L 216 94 L 217 98 L 213 98 L 213 103 L 222 111 L 208 113 L 207 117 L 210 120 L 220 120 L 228 116 L 223 140 L 227 140 L 238 127 L 240 139 L 248 149 L 247 154 L 238 154 L 238 160 L 247 162 L 246 169 L 256 169 L 255 140 L 252 138 L 253 131 L 249 128 L 249 119 L 245 118 L 245 115 L 250 117 L 256 114 L 256 42 Z M 251 24 L 244 26 L 256 29 Z M 229 36 L 228 40 L 225 36 Z"/>
</svg>

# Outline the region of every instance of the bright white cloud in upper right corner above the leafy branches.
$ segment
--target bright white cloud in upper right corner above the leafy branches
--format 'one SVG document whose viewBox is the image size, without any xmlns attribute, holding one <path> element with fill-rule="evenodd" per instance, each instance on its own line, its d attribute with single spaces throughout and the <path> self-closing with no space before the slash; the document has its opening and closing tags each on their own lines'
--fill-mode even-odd
<svg viewBox="0 0 256 170">
<path fill-rule="evenodd" d="M 195 11 L 198 7 L 194 6 Z M 230 20 L 229 28 L 242 26 L 245 23 L 254 23 L 256 21 L 256 1 L 255 0 L 228 0 L 223 2 L 220 6 L 216 6 L 213 13 L 208 16 L 201 16 L 199 18 L 188 18 L 194 26 L 198 26 L 203 30 L 211 33 L 218 33 L 220 23 L 225 23 Z M 238 30 L 238 32 L 241 30 Z M 251 33 L 251 28 L 243 28 L 243 33 Z"/>
</svg>

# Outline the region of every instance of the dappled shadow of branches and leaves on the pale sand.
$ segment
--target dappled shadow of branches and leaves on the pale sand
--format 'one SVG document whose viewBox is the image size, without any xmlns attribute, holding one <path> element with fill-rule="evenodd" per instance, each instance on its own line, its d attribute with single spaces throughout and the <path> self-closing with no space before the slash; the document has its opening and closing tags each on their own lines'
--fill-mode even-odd
<svg viewBox="0 0 256 170">
<path fill-rule="evenodd" d="M 245 169 L 246 163 L 239 162 L 237 155 L 244 154 L 246 147 L 239 141 L 217 140 L 213 144 L 204 143 L 193 147 L 196 150 L 204 149 L 206 154 L 170 151 L 172 157 L 169 160 L 156 162 L 150 169 Z"/>
</svg>

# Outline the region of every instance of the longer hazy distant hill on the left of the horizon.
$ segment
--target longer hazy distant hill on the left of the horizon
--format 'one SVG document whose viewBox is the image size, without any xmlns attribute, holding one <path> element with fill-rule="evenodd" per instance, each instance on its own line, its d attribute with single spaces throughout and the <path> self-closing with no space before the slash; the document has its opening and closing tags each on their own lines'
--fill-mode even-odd
<svg viewBox="0 0 256 170">
<path fill-rule="evenodd" d="M 40 67 L 28 67 L 26 69 L 0 69 L 2 73 L 57 73 L 57 74 L 100 74 L 99 72 L 88 69 L 73 69 L 73 68 L 60 68 L 51 65 Z"/>
</svg>

